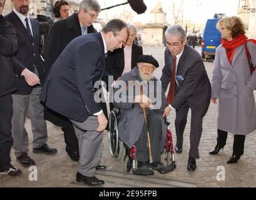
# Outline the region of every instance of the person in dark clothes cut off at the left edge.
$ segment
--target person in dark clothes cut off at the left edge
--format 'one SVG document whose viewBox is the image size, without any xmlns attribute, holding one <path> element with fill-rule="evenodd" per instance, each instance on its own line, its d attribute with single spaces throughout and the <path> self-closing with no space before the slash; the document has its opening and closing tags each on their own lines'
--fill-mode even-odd
<svg viewBox="0 0 256 200">
<path fill-rule="evenodd" d="M 11 164 L 11 118 L 13 116 L 13 99 L 11 93 L 17 87 L 11 66 L 11 56 L 17 51 L 15 28 L 4 20 L 2 11 L 5 0 L 0 0 L 0 174 L 19 176 L 22 171 Z M 21 72 L 16 72 L 21 74 Z"/>
</svg>

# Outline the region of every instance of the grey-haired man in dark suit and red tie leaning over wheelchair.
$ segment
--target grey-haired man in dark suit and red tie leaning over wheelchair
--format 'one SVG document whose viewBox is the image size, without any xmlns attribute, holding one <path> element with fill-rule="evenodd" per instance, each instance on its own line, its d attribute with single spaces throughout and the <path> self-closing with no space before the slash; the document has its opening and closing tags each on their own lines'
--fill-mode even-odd
<svg viewBox="0 0 256 200">
<path fill-rule="evenodd" d="M 200 54 L 186 44 L 186 33 L 182 26 L 173 25 L 165 32 L 165 66 L 161 76 L 163 89 L 170 83 L 164 116 L 176 110 L 176 153 L 182 153 L 183 133 L 187 124 L 188 109 L 192 111 L 190 128 L 190 151 L 188 171 L 197 168 L 198 145 L 202 135 L 203 117 L 210 104 L 211 86 Z"/>
</svg>

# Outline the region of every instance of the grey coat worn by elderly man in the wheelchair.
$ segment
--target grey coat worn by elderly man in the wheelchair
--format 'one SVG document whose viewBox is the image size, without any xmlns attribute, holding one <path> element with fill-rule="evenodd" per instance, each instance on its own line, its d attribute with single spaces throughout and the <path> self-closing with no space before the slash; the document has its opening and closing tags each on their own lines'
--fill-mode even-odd
<svg viewBox="0 0 256 200">
<path fill-rule="evenodd" d="M 123 74 L 123 76 L 121 76 L 120 81 L 125 81 L 126 86 L 128 85 L 128 81 L 139 81 L 141 82 L 141 78 L 140 78 L 140 73 L 138 68 L 133 68 L 129 73 Z M 115 86 L 115 95 L 118 91 L 118 82 L 116 82 L 116 86 Z M 156 97 L 156 83 L 160 84 L 158 85 L 158 92 L 160 91 L 160 96 L 158 95 L 158 98 L 156 99 L 156 101 L 161 101 L 160 104 L 160 108 L 156 109 L 156 114 L 158 114 L 160 117 L 163 114 L 163 110 L 166 108 L 166 106 L 168 105 L 166 102 L 166 97 L 165 97 L 165 93 L 163 92 L 163 89 L 161 87 L 161 81 L 158 81 L 156 78 L 153 79 L 154 81 L 154 95 Z M 129 96 L 131 97 L 131 99 L 134 99 L 135 94 L 138 95 L 138 93 L 134 93 L 133 96 L 131 97 L 131 93 L 129 93 Z M 139 93 L 140 94 L 140 93 Z M 144 94 L 144 92 L 143 92 Z M 150 94 L 150 93 L 148 93 Z M 158 93 L 159 94 L 159 93 Z M 125 98 L 128 98 L 128 92 L 127 93 L 123 93 L 122 95 L 125 95 Z M 154 104 L 154 102 L 152 101 L 152 103 Z M 140 107 L 139 104 L 133 104 L 133 103 L 125 103 L 125 102 L 120 102 L 117 103 L 115 101 L 114 98 L 114 102 L 113 102 L 115 108 L 119 108 L 120 109 L 120 119 L 118 120 L 118 133 L 120 136 L 121 141 L 123 141 L 123 143 L 125 143 L 128 148 L 131 148 L 131 146 L 133 146 L 136 141 L 138 141 L 139 137 L 140 137 L 140 133 L 142 131 L 143 128 L 143 124 L 145 123 L 145 118 L 143 115 L 143 111 Z M 161 117 L 161 132 L 162 132 L 162 136 L 161 136 L 161 152 L 163 151 L 164 148 L 164 143 L 165 143 L 165 139 L 166 139 L 166 125 L 165 125 L 165 120 L 163 117 Z"/>
</svg>

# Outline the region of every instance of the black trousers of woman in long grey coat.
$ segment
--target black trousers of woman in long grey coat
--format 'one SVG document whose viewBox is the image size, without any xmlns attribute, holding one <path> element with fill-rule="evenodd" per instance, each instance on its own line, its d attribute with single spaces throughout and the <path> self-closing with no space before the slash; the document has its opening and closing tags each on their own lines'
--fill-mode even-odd
<svg viewBox="0 0 256 200">
<path fill-rule="evenodd" d="M 227 141 L 228 133 L 226 131 L 222 131 L 218 129 L 218 138 L 217 138 L 217 145 L 218 146 L 225 146 Z M 243 135 L 234 135 L 233 140 L 233 155 L 242 156 L 243 149 L 245 146 L 245 136 Z"/>
</svg>

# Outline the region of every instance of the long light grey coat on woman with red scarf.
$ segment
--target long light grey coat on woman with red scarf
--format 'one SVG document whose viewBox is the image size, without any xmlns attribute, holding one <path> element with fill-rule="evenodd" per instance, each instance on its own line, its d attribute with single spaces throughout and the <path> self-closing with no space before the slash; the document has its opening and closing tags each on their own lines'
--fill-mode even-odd
<svg viewBox="0 0 256 200">
<path fill-rule="evenodd" d="M 256 68 L 256 45 L 247 43 Z M 232 134 L 247 135 L 256 129 L 256 108 L 253 89 L 256 71 L 250 73 L 245 45 L 235 49 L 232 65 L 226 49 L 216 49 L 212 75 L 212 98 L 218 98 L 218 129 Z"/>
</svg>

